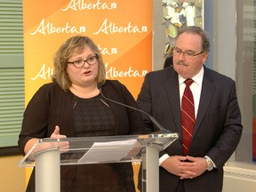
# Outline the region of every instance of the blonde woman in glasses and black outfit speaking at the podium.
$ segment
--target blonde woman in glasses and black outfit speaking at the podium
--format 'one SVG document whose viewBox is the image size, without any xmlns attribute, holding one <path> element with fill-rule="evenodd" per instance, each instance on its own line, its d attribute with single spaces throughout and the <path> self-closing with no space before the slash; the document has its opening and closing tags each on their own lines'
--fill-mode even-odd
<svg viewBox="0 0 256 192">
<path fill-rule="evenodd" d="M 96 44 L 73 36 L 54 57 L 53 82 L 44 84 L 24 113 L 19 147 L 26 154 L 39 138 L 92 137 L 148 133 L 132 94 L 116 80 L 105 79 L 105 66 Z M 35 190 L 32 175 L 27 191 Z M 135 191 L 132 164 L 61 166 L 61 191 Z"/>
</svg>

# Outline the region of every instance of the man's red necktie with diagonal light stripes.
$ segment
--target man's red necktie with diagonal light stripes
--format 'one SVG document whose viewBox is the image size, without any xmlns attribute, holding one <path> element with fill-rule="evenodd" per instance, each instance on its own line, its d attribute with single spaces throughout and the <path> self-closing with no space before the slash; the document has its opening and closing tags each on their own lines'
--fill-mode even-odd
<svg viewBox="0 0 256 192">
<path fill-rule="evenodd" d="M 193 94 L 189 88 L 190 84 L 193 82 L 194 81 L 192 79 L 187 79 L 184 82 L 186 84 L 186 88 L 181 100 L 181 127 L 184 156 L 188 155 L 188 150 L 192 141 L 192 135 L 196 122 Z"/>
</svg>

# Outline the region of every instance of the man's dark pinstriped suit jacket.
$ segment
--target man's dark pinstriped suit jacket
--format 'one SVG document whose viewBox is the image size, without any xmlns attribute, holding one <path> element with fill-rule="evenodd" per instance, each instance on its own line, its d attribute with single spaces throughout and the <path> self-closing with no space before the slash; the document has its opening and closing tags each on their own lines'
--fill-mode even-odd
<svg viewBox="0 0 256 192">
<path fill-rule="evenodd" d="M 172 67 L 148 73 L 137 101 L 140 108 L 154 116 L 164 128 L 181 135 L 179 80 Z M 152 125 L 146 116 L 145 123 Z M 221 191 L 223 165 L 235 151 L 242 129 L 235 82 L 204 67 L 203 87 L 188 156 L 209 156 L 218 168 L 195 179 L 183 180 L 186 191 Z M 164 153 L 182 156 L 181 143 L 180 137 Z M 162 167 L 159 169 L 160 191 L 174 191 L 180 178 Z"/>
</svg>

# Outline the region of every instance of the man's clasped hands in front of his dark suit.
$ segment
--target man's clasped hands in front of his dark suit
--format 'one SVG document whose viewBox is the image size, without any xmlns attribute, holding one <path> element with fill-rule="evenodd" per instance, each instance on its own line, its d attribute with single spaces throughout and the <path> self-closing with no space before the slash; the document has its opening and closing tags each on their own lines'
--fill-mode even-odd
<svg viewBox="0 0 256 192">
<path fill-rule="evenodd" d="M 160 166 L 180 180 L 193 179 L 207 170 L 204 157 L 193 156 L 169 156 Z"/>
</svg>

